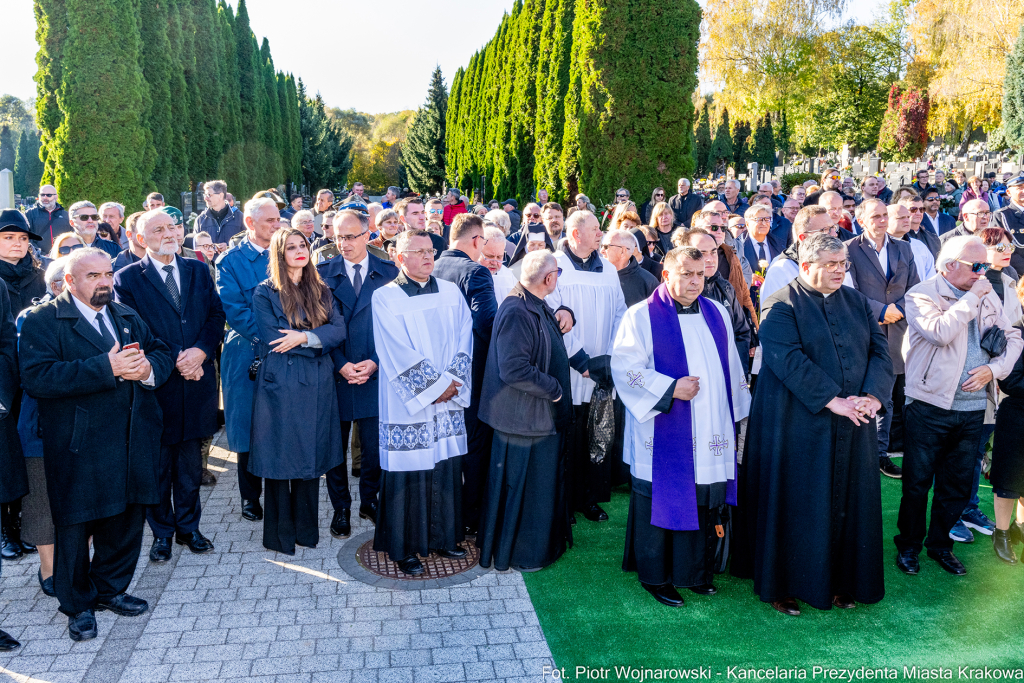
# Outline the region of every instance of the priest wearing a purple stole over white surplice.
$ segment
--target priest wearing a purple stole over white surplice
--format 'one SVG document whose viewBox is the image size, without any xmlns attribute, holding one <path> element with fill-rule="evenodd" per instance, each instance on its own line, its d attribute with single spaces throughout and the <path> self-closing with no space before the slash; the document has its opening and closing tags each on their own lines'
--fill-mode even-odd
<svg viewBox="0 0 1024 683">
<path fill-rule="evenodd" d="M 611 354 L 626 405 L 623 459 L 633 489 L 623 570 L 662 604 L 676 587 L 714 595 L 736 504 L 736 428 L 751 395 L 729 313 L 700 296 L 703 257 L 666 254 L 665 283 L 623 317 Z"/>
</svg>

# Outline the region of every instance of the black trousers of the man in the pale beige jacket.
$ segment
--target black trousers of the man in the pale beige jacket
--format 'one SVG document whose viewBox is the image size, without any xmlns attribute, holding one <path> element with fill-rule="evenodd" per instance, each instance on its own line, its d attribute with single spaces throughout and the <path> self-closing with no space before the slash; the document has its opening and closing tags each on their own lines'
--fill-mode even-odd
<svg viewBox="0 0 1024 683">
<path fill-rule="evenodd" d="M 948 550 L 953 547 L 949 529 L 971 500 L 985 411 L 946 411 L 915 400 L 906 407 L 904 416 L 903 498 L 896 522 L 896 548 L 921 552 L 924 542 L 929 550 Z M 928 492 L 933 479 L 926 539 Z"/>
</svg>

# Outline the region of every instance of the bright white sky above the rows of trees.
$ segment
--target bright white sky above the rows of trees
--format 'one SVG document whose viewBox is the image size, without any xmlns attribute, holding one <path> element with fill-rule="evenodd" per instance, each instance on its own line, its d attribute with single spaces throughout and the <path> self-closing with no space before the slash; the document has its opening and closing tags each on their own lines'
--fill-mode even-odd
<svg viewBox="0 0 1024 683">
<path fill-rule="evenodd" d="M 512 2 L 389 0 L 378 5 L 247 0 L 253 33 L 260 40 L 269 39 L 279 70 L 302 78 L 329 106 L 371 114 L 420 106 L 437 65 L 451 86 L 456 70 L 494 35 Z M 34 97 L 37 45 L 32 0 L 3 4 L 0 94 Z M 883 0 L 852 4 L 849 16 L 866 23 Z M 293 11 L 282 12 L 282 7 Z"/>
</svg>

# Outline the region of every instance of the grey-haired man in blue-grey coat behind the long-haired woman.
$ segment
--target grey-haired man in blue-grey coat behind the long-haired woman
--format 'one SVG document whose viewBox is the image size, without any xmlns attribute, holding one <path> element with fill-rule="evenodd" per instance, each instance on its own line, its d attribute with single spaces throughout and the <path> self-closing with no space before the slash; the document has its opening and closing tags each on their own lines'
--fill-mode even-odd
<svg viewBox="0 0 1024 683">
<path fill-rule="evenodd" d="M 246 237 L 217 261 L 217 291 L 227 316 L 228 333 L 220 354 L 227 447 L 239 454 L 239 493 L 242 517 L 263 518 L 259 497 L 263 482 L 249 473 L 249 435 L 252 430 L 253 381 L 249 368 L 259 354 L 259 334 L 253 294 L 267 279 L 267 248 L 281 227 L 278 205 L 270 198 L 249 200 L 245 206 Z"/>
</svg>

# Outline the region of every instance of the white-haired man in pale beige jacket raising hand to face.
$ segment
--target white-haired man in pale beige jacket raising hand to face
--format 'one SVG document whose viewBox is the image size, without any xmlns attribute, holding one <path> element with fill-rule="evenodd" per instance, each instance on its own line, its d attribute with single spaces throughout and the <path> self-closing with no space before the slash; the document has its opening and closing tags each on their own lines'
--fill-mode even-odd
<svg viewBox="0 0 1024 683">
<path fill-rule="evenodd" d="M 965 209 L 981 210 L 972 204 Z M 1024 347 L 985 278 L 987 259 L 980 239 L 949 238 L 936 260 L 938 274 L 906 294 L 906 443 L 895 539 L 904 573 L 921 570 L 923 547 L 949 573 L 967 573 L 952 553 L 950 530 L 971 499 L 987 399 L 994 400 L 995 381 L 1010 374 Z"/>
</svg>

